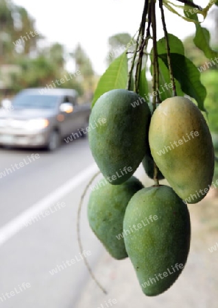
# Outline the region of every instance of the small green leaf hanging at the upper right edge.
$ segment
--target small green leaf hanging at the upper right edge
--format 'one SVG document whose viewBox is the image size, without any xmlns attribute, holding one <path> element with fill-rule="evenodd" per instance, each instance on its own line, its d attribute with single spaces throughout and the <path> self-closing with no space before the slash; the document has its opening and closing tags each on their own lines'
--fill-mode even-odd
<svg viewBox="0 0 218 308">
<path fill-rule="evenodd" d="M 196 25 L 194 43 L 197 48 L 204 52 L 208 59 L 218 57 L 218 53 L 210 47 L 210 32 L 201 25 Z"/>
</svg>

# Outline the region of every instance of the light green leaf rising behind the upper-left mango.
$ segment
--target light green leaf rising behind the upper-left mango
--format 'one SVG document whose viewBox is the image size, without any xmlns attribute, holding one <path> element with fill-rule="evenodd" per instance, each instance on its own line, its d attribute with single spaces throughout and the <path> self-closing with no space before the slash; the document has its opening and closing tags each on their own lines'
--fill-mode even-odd
<svg viewBox="0 0 218 308">
<path fill-rule="evenodd" d="M 128 82 L 128 57 L 122 53 L 115 59 L 99 79 L 92 107 L 102 94 L 113 89 L 125 89 Z"/>
</svg>

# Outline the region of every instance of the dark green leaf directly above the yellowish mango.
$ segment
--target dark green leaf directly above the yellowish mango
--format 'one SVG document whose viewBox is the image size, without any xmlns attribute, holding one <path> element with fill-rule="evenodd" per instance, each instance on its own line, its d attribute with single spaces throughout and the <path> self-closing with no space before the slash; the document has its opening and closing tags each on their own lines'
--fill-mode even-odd
<svg viewBox="0 0 218 308">
<path fill-rule="evenodd" d="M 159 57 L 168 67 L 167 54 L 159 55 Z M 187 57 L 178 53 L 171 53 L 171 66 L 173 76 L 180 82 L 182 91 L 197 101 L 200 110 L 206 111 L 204 109 L 206 88 L 200 81 L 200 73 L 197 67 Z"/>
</svg>

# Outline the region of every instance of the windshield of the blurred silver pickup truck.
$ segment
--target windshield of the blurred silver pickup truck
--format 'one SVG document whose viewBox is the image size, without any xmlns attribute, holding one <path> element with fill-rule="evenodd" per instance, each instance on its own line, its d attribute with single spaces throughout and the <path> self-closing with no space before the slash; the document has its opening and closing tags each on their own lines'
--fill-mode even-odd
<svg viewBox="0 0 218 308">
<path fill-rule="evenodd" d="M 12 101 L 14 108 L 53 109 L 58 103 L 56 95 L 40 95 L 21 93 Z"/>
</svg>

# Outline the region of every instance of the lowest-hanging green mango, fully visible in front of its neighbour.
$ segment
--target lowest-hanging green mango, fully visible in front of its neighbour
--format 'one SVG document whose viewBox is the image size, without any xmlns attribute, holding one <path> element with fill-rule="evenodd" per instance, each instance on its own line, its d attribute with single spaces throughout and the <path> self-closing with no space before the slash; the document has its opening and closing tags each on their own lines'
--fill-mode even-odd
<svg viewBox="0 0 218 308">
<path fill-rule="evenodd" d="M 128 203 L 125 249 L 147 296 L 165 292 L 189 254 L 191 224 L 186 203 L 166 185 L 143 188 Z"/>
</svg>

